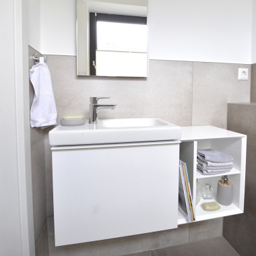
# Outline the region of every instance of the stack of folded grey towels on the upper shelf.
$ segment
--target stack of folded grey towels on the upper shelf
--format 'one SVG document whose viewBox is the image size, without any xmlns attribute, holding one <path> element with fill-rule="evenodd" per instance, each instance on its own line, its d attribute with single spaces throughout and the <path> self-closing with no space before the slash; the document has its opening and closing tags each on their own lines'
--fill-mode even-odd
<svg viewBox="0 0 256 256">
<path fill-rule="evenodd" d="M 230 172 L 233 158 L 217 150 L 197 150 L 197 171 L 203 175 Z"/>
</svg>

